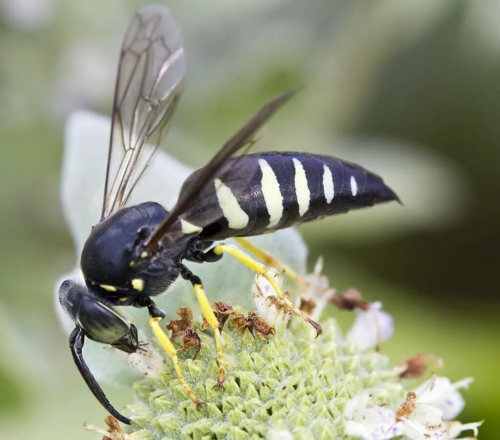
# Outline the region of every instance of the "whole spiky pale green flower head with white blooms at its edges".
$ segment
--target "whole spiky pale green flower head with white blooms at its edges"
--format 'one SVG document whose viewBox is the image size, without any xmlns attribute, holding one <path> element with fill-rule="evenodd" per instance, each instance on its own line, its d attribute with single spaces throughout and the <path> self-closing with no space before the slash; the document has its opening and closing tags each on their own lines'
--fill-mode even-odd
<svg viewBox="0 0 500 440">
<path fill-rule="evenodd" d="M 280 275 L 275 273 L 279 282 Z M 268 287 L 267 281 L 255 279 L 257 310 Z M 317 293 L 307 289 L 313 290 Z M 133 387 L 138 402 L 125 410 L 133 424 L 128 434 L 114 432 L 117 439 L 451 439 L 462 430 L 477 429 L 478 424 L 444 422 L 461 411 L 456 388 L 469 381 L 453 386 L 445 378 L 433 378 L 408 393 L 400 378 L 415 367 L 408 362 L 391 368 L 375 344 L 357 339 L 377 326 L 390 334 L 391 320 L 376 305 L 358 312 L 347 336 L 328 319 L 317 339 L 280 307 L 267 304 L 265 313 L 275 330 L 267 336 L 251 325 L 245 330 L 241 318 L 246 313 L 238 311 L 239 318 L 229 318 L 222 332 L 227 364 L 223 392 L 214 389 L 218 365 L 210 331 L 195 324 L 201 351 L 195 360 L 194 348 L 180 355 L 187 381 L 206 404 L 201 410 L 186 398 L 158 351 L 132 355 L 145 378 Z"/>
</svg>

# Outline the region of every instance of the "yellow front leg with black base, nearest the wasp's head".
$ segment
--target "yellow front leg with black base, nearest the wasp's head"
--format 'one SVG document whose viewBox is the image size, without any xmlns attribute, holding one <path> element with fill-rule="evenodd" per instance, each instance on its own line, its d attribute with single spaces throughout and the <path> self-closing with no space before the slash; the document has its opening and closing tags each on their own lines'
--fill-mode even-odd
<svg viewBox="0 0 500 440">
<path fill-rule="evenodd" d="M 177 378 L 182 384 L 187 396 L 191 399 L 191 402 L 196 406 L 196 408 L 200 410 L 205 404 L 194 394 L 189 385 L 187 385 L 182 371 L 180 370 L 177 350 L 175 350 L 172 342 L 159 325 L 160 321 L 165 317 L 165 312 L 159 309 L 154 301 L 149 297 L 139 298 L 133 305 L 135 307 L 147 307 L 147 311 L 149 312 L 149 327 L 151 327 L 156 340 L 159 342 L 163 350 L 165 350 L 167 356 L 170 358 L 170 361 L 172 361 Z"/>
</svg>

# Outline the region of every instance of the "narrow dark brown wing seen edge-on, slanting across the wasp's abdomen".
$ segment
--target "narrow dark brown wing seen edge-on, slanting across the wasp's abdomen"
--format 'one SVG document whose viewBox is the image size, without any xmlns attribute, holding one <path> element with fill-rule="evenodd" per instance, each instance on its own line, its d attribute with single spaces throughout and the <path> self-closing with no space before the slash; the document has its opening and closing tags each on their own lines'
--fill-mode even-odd
<svg viewBox="0 0 500 440">
<path fill-rule="evenodd" d="M 153 231 L 147 241 L 147 250 L 155 249 L 161 238 L 168 233 L 173 224 L 183 217 L 190 210 L 203 208 L 203 201 L 200 195 L 208 185 L 213 185 L 216 179 L 223 182 L 223 170 L 227 161 L 239 150 L 244 147 L 250 147 L 253 142 L 253 136 L 257 130 L 278 110 L 290 97 L 295 90 L 289 90 L 265 104 L 255 115 L 241 127 L 219 150 L 219 152 L 206 164 L 193 173 L 190 178 L 184 182 L 179 194 L 177 203 L 170 211 L 168 216 Z M 241 179 L 251 179 L 251 176 L 241 176 Z M 240 185 L 242 187 L 242 185 Z M 208 219 L 207 219 L 208 221 Z M 210 220 L 211 221 L 211 220 Z"/>
</svg>

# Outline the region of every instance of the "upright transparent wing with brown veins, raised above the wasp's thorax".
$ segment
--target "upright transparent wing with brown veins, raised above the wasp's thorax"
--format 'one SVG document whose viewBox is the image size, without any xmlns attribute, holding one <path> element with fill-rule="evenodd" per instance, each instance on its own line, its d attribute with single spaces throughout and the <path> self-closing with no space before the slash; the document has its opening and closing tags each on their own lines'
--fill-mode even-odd
<svg viewBox="0 0 500 440">
<path fill-rule="evenodd" d="M 182 37 L 168 9 L 139 9 L 121 46 L 101 220 L 125 205 L 158 148 L 184 73 Z"/>
</svg>

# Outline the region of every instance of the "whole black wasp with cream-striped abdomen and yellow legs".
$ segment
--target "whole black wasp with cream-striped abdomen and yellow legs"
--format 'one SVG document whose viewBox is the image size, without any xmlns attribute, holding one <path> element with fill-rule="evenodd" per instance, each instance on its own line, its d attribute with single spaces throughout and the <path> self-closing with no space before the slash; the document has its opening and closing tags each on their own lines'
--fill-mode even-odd
<svg viewBox="0 0 500 440">
<path fill-rule="evenodd" d="M 175 348 L 159 326 L 165 313 L 151 299 L 178 276 L 192 283 L 214 333 L 219 364 L 215 387 L 223 389 L 218 322 L 201 280 L 182 260 L 210 262 L 223 253 L 234 256 L 265 276 L 276 295 L 319 334 L 320 326 L 283 296 L 263 264 L 233 245 L 213 242 L 238 237 L 239 243 L 261 257 L 265 253 L 242 237 L 397 200 L 380 177 L 333 157 L 246 154 L 255 132 L 293 94 L 287 92 L 264 105 L 206 166 L 186 179 L 170 212 L 155 202 L 126 206 L 167 132 L 184 72 L 182 39 L 169 11 L 162 6 L 143 7 L 130 22 L 121 47 L 102 215 L 81 254 L 85 285 L 66 280 L 59 288 L 61 306 L 75 323 L 69 336 L 74 362 L 97 400 L 126 424 L 131 421 L 111 406 L 82 357 L 85 337 L 127 353 L 139 349 L 136 328 L 114 306 L 147 307 L 153 333 L 199 408 L 202 402 L 185 382 Z"/>
</svg>

